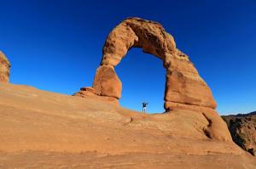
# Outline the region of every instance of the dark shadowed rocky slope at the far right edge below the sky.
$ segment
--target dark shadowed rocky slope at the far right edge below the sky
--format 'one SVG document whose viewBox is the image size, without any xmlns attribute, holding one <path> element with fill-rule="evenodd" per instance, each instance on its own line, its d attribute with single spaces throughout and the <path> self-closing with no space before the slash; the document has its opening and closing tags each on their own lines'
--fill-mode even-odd
<svg viewBox="0 0 256 169">
<path fill-rule="evenodd" d="M 233 141 L 250 154 L 256 155 L 256 112 L 238 115 L 223 115 Z"/>
</svg>

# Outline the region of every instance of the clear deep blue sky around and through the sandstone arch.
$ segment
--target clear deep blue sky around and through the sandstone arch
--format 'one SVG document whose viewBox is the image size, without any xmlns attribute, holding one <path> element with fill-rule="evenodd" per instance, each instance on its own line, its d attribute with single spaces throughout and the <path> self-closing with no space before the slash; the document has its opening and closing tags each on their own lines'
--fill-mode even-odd
<svg viewBox="0 0 256 169">
<path fill-rule="evenodd" d="M 256 110 L 255 1 L 0 0 L 10 82 L 73 94 L 91 86 L 109 31 L 137 16 L 160 22 L 212 89 L 221 115 Z M 120 104 L 162 112 L 161 60 L 133 48 L 116 67 Z"/>
</svg>

